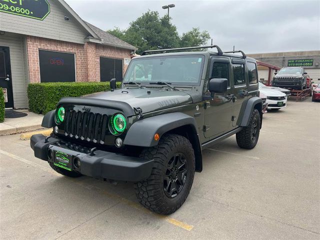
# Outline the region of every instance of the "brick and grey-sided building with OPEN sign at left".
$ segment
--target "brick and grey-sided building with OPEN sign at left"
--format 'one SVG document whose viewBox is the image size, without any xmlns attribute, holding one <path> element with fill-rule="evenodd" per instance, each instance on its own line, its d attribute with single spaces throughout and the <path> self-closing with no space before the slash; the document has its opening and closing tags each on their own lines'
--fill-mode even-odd
<svg viewBox="0 0 320 240">
<path fill-rule="evenodd" d="M 83 21 L 63 0 L 0 1 L 7 108 L 27 108 L 30 82 L 122 80 L 135 49 Z"/>
</svg>

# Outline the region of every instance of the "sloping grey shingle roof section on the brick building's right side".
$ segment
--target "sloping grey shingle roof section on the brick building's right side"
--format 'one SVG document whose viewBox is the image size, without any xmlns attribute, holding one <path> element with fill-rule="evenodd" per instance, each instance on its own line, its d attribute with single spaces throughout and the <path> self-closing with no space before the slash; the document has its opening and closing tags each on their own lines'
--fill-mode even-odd
<svg viewBox="0 0 320 240">
<path fill-rule="evenodd" d="M 126 49 L 137 49 L 135 46 L 132 46 L 131 44 L 111 35 L 110 33 L 103 31 L 102 29 L 92 25 L 89 22 L 85 23 L 92 29 L 92 31 L 98 35 L 98 37 L 103 41 L 103 44 L 110 45 L 110 46 L 116 46 L 120 48 L 126 48 Z"/>
</svg>

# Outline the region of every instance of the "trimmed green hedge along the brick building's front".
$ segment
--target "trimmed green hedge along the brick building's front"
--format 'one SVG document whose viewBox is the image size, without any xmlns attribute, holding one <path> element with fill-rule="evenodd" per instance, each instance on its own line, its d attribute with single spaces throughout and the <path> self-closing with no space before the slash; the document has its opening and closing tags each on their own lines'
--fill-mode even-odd
<svg viewBox="0 0 320 240">
<path fill-rule="evenodd" d="M 117 86 L 121 83 L 117 82 Z M 55 108 L 61 97 L 82 96 L 110 90 L 109 82 L 47 82 L 28 85 L 29 110 L 45 114 Z"/>
</svg>

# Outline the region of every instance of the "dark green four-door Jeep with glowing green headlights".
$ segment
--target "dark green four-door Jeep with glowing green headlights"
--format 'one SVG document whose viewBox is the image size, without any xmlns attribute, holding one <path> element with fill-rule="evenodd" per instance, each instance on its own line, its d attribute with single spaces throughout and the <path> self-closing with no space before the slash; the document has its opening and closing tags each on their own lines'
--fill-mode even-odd
<svg viewBox="0 0 320 240">
<path fill-rule="evenodd" d="M 43 117 L 52 134 L 33 135 L 30 145 L 63 175 L 132 181 L 143 206 L 170 214 L 202 170 L 203 149 L 233 134 L 239 147 L 256 145 L 257 79 L 256 61 L 240 50 L 145 51 L 131 60 L 120 89 L 112 79 L 111 91 L 62 98 Z"/>
</svg>

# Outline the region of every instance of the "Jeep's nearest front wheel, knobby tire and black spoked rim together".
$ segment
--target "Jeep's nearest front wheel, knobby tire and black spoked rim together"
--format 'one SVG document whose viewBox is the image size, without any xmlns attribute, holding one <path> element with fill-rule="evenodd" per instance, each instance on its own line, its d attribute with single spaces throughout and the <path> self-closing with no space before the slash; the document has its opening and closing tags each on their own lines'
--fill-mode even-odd
<svg viewBox="0 0 320 240">
<path fill-rule="evenodd" d="M 145 159 L 154 159 L 150 176 L 134 184 L 139 202 L 146 208 L 170 214 L 185 201 L 194 177 L 194 152 L 181 135 L 163 135 L 157 146 L 145 148 Z"/>
</svg>

